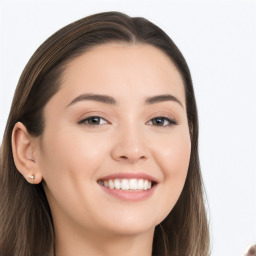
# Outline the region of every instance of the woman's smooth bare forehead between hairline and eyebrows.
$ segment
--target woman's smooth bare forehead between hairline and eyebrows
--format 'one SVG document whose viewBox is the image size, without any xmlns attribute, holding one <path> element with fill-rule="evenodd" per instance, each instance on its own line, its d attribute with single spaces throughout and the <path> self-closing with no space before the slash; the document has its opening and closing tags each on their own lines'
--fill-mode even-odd
<svg viewBox="0 0 256 256">
<path fill-rule="evenodd" d="M 143 96 L 171 93 L 185 106 L 179 71 L 162 50 L 149 44 L 108 43 L 92 47 L 66 65 L 60 91 L 63 90 L 70 99 L 86 92 L 114 97 L 131 91 Z"/>
</svg>

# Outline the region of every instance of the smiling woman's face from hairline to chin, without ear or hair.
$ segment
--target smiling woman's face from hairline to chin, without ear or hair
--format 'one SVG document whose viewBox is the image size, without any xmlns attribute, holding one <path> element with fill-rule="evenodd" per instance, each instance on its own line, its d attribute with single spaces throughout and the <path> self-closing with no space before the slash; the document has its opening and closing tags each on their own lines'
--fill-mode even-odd
<svg viewBox="0 0 256 256">
<path fill-rule="evenodd" d="M 68 64 L 44 114 L 36 161 L 55 228 L 153 232 L 180 196 L 191 148 L 170 59 L 147 44 L 94 47 Z"/>
</svg>

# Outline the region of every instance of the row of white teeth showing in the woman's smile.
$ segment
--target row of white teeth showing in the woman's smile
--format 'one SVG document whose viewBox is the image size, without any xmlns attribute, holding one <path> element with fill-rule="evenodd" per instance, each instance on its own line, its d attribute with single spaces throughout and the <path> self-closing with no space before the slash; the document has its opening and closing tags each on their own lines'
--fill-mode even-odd
<svg viewBox="0 0 256 256">
<path fill-rule="evenodd" d="M 144 179 L 114 179 L 98 183 L 106 188 L 121 190 L 148 190 L 152 187 L 152 182 Z"/>
</svg>

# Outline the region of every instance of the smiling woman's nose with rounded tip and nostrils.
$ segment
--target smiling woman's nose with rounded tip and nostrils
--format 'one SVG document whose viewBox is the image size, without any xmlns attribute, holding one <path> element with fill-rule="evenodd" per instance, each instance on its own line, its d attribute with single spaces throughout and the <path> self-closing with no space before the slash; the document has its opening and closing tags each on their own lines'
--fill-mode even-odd
<svg viewBox="0 0 256 256">
<path fill-rule="evenodd" d="M 136 163 L 149 157 L 149 150 L 143 132 L 135 128 L 126 128 L 115 136 L 111 156 L 116 161 Z"/>
</svg>

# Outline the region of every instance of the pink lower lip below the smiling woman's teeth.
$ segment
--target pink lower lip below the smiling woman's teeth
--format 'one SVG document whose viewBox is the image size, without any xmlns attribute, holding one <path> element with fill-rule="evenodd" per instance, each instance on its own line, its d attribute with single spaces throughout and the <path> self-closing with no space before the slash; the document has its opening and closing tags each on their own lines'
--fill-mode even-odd
<svg viewBox="0 0 256 256">
<path fill-rule="evenodd" d="M 107 194 L 117 197 L 124 201 L 143 201 L 151 197 L 156 189 L 157 185 L 154 185 L 151 189 L 148 190 L 122 190 L 122 189 L 111 189 L 106 188 L 102 185 L 99 185 L 101 189 Z"/>
</svg>

